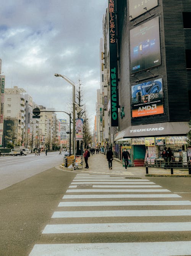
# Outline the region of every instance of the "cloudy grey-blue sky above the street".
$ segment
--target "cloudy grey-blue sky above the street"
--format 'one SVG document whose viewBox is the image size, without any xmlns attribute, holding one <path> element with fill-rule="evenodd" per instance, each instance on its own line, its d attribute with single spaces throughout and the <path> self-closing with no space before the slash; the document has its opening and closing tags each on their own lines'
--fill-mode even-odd
<svg viewBox="0 0 191 256">
<path fill-rule="evenodd" d="M 72 86 L 83 84 L 95 116 L 100 88 L 99 43 L 107 0 L 5 0 L 0 8 L 0 59 L 5 87 L 25 89 L 39 105 L 68 110 Z M 64 114 L 57 113 L 59 118 Z"/>
</svg>

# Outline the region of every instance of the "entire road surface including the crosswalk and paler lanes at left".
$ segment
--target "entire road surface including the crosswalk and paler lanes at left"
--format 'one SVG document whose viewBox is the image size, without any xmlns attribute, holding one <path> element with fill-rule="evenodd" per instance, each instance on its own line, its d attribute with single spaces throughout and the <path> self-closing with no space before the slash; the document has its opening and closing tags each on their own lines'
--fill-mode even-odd
<svg viewBox="0 0 191 256">
<path fill-rule="evenodd" d="M 0 256 L 191 255 L 190 178 L 83 175 L 62 157 L 0 158 Z"/>
</svg>

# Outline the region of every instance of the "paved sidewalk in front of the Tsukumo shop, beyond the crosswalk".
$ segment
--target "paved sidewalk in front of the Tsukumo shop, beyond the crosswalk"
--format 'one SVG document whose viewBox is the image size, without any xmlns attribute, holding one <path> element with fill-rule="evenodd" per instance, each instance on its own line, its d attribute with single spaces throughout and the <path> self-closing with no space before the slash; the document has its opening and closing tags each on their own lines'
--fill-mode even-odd
<svg viewBox="0 0 191 256">
<path fill-rule="evenodd" d="M 112 170 L 108 168 L 108 161 L 106 159 L 106 155 L 104 154 L 94 154 L 90 155 L 88 159 L 89 169 L 84 168 L 86 166 L 84 159 L 83 159 L 83 169 L 76 169 L 73 171 L 69 168 L 62 167 L 64 170 L 71 170 L 73 172 L 80 172 L 80 173 L 94 173 L 94 174 L 110 174 L 110 175 L 117 175 L 117 176 L 128 176 L 128 177 L 140 177 L 146 176 L 146 167 L 128 167 L 127 171 L 125 171 L 125 167 L 123 167 L 122 162 L 119 159 L 113 160 Z M 167 175 L 167 176 L 176 176 L 176 175 L 183 175 L 186 177 L 191 177 L 188 174 L 188 170 L 181 170 L 181 169 L 173 169 L 173 175 L 171 175 L 170 169 L 163 169 L 163 168 L 152 168 L 148 167 L 149 175 L 160 176 L 160 175 Z M 147 174 L 148 176 L 148 174 Z"/>
</svg>

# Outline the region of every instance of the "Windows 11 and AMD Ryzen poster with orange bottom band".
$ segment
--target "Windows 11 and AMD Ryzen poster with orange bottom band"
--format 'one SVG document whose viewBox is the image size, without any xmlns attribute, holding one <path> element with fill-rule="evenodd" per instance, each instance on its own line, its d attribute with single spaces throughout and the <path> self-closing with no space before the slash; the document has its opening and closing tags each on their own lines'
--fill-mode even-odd
<svg viewBox="0 0 191 256">
<path fill-rule="evenodd" d="M 162 78 L 131 86 L 132 117 L 163 114 Z"/>
</svg>

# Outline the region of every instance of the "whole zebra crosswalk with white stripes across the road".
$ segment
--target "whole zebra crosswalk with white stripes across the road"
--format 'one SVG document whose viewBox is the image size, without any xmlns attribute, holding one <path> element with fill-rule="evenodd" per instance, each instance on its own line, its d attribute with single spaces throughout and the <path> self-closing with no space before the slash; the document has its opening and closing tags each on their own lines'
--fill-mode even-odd
<svg viewBox="0 0 191 256">
<path fill-rule="evenodd" d="M 191 255 L 191 201 L 147 179 L 77 174 L 29 256 Z"/>
</svg>

